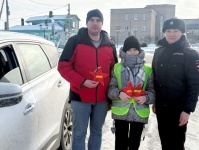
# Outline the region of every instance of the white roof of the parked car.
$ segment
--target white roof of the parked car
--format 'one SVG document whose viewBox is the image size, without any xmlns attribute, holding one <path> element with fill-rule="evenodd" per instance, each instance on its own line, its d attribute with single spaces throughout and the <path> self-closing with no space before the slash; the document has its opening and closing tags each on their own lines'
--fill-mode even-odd
<svg viewBox="0 0 199 150">
<path fill-rule="evenodd" d="M 40 36 L 26 34 L 26 33 L 19 33 L 19 32 L 11 32 L 11 31 L 0 31 L 0 42 L 6 41 L 31 41 L 31 42 L 39 42 L 45 43 L 48 45 L 55 45 L 53 42 L 46 40 Z"/>
</svg>

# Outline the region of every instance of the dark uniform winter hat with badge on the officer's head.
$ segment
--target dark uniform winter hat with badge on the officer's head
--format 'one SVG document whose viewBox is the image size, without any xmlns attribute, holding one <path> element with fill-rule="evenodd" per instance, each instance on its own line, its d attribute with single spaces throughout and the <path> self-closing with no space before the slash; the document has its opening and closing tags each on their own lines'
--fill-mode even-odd
<svg viewBox="0 0 199 150">
<path fill-rule="evenodd" d="M 167 29 L 178 29 L 182 33 L 185 33 L 185 23 L 181 19 L 171 18 L 164 22 L 162 32 L 165 32 Z"/>
</svg>

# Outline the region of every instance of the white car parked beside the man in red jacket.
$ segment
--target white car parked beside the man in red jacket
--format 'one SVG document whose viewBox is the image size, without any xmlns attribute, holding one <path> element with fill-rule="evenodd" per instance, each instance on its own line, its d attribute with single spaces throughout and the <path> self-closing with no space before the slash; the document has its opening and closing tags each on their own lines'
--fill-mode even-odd
<svg viewBox="0 0 199 150">
<path fill-rule="evenodd" d="M 0 31 L 0 149 L 71 150 L 69 83 L 44 38 Z"/>
</svg>

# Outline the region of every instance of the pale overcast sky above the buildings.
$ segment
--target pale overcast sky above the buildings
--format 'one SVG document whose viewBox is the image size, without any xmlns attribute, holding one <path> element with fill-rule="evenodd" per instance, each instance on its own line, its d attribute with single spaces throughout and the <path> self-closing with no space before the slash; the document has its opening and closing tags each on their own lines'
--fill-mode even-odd
<svg viewBox="0 0 199 150">
<path fill-rule="evenodd" d="M 0 0 L 0 5 L 2 1 Z M 86 26 L 86 14 L 89 10 L 100 9 L 104 15 L 103 29 L 108 32 L 110 30 L 110 10 L 116 8 L 144 8 L 146 5 L 153 4 L 173 4 L 176 5 L 176 17 L 199 18 L 199 1 L 197 0 L 8 0 L 9 26 L 20 25 L 21 18 L 26 20 L 32 16 L 48 15 L 49 11 L 53 11 L 54 15 L 66 15 L 69 3 L 71 14 L 77 14 L 81 20 L 80 27 Z M 0 29 L 4 29 L 5 10 L 4 6 Z"/>
</svg>

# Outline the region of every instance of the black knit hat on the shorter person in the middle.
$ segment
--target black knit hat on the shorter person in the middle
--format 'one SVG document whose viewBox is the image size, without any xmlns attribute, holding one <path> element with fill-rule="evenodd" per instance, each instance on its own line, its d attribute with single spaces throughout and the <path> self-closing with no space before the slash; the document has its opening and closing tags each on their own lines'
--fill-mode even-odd
<svg viewBox="0 0 199 150">
<path fill-rule="evenodd" d="M 141 47 L 138 39 L 134 36 L 129 36 L 124 41 L 123 51 L 126 53 L 130 48 L 136 48 L 139 53 L 141 52 Z"/>
</svg>

